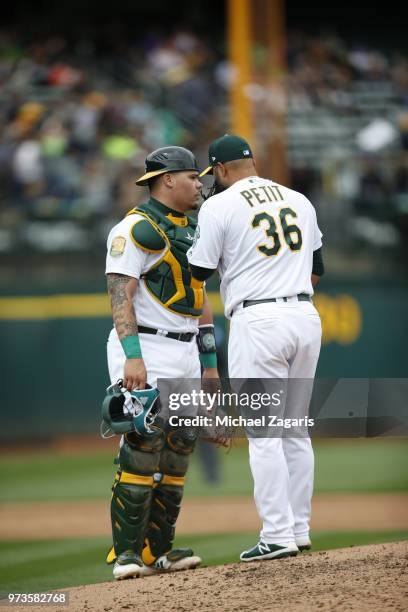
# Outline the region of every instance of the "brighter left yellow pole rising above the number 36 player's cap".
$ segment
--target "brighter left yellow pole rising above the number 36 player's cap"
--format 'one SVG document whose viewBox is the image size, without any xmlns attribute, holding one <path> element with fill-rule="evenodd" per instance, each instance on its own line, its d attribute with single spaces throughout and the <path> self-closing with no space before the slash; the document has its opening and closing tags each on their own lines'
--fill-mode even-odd
<svg viewBox="0 0 408 612">
<path fill-rule="evenodd" d="M 231 130 L 252 141 L 251 101 L 245 91 L 251 82 L 250 0 L 227 0 L 228 55 L 233 66 Z"/>
</svg>

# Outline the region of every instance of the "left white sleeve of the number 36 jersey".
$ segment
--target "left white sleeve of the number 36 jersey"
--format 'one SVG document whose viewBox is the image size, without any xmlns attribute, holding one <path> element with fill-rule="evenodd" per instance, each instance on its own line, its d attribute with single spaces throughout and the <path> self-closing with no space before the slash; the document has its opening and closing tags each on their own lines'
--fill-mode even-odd
<svg viewBox="0 0 408 612">
<path fill-rule="evenodd" d="M 198 214 L 194 242 L 187 252 L 193 266 L 216 269 L 222 255 L 223 231 L 219 220 L 203 205 Z"/>
</svg>

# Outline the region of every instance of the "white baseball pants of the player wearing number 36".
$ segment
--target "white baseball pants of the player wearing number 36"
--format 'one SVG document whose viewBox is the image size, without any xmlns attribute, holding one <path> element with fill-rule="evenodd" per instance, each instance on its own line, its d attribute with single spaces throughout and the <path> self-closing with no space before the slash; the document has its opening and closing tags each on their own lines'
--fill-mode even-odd
<svg viewBox="0 0 408 612">
<path fill-rule="evenodd" d="M 320 317 L 311 302 L 294 297 L 287 302 L 241 305 L 231 320 L 229 376 L 309 379 L 302 393 L 292 397 L 301 404 L 296 412 L 307 415 L 320 344 Z M 255 504 L 262 520 L 260 539 L 280 544 L 308 537 L 314 477 L 310 438 L 252 438 L 248 443 Z"/>
</svg>

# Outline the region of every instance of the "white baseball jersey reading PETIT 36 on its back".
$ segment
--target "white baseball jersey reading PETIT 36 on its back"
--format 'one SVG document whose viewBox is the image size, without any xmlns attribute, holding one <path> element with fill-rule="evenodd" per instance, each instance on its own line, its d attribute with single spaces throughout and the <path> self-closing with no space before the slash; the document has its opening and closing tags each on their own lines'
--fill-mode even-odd
<svg viewBox="0 0 408 612">
<path fill-rule="evenodd" d="M 190 264 L 218 268 L 230 318 L 244 300 L 313 295 L 313 251 L 321 238 L 304 195 L 251 176 L 204 202 L 187 255 Z"/>
</svg>

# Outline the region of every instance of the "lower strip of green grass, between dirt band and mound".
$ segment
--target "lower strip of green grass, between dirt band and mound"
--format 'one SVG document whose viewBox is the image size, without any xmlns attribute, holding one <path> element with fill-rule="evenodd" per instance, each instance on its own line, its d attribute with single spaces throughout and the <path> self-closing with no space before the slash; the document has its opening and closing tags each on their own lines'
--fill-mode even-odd
<svg viewBox="0 0 408 612">
<path fill-rule="evenodd" d="M 408 539 L 408 531 L 323 532 L 313 534 L 313 547 L 328 550 L 403 539 Z M 178 538 L 176 545 L 191 546 L 204 565 L 220 565 L 237 562 L 239 553 L 256 540 L 255 533 L 217 534 Z M 0 545 L 0 551 L 0 597 L 112 579 L 112 568 L 104 563 L 107 546 L 102 538 L 7 542 Z"/>
</svg>

